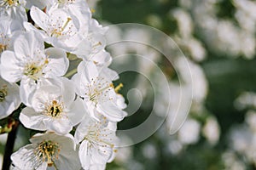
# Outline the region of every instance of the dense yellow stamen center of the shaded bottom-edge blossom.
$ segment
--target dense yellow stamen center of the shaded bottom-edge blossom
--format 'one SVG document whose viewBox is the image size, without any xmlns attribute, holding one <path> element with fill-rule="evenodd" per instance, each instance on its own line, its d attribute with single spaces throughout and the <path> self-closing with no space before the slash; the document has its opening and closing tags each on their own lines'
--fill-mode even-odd
<svg viewBox="0 0 256 170">
<path fill-rule="evenodd" d="M 51 167 L 55 165 L 55 160 L 58 159 L 60 151 L 61 147 L 58 143 L 47 140 L 38 144 L 38 147 L 34 150 L 34 153 L 38 159 L 46 161 L 48 166 Z"/>
</svg>

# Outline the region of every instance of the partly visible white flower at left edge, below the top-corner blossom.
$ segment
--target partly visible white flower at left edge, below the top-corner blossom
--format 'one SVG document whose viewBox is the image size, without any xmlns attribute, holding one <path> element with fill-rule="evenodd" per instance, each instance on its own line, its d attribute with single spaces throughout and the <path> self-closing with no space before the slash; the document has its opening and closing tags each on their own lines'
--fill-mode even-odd
<svg viewBox="0 0 256 170">
<path fill-rule="evenodd" d="M 0 54 L 4 50 L 13 49 L 15 38 L 22 30 L 22 25 L 18 20 L 3 18 L 0 20 Z"/>
</svg>

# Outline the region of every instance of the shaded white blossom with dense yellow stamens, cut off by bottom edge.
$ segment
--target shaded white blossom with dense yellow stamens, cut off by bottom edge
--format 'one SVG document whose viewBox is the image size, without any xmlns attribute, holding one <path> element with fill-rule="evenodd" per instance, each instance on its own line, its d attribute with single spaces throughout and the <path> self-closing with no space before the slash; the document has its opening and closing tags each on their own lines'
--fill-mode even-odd
<svg viewBox="0 0 256 170">
<path fill-rule="evenodd" d="M 21 170 L 55 169 L 79 170 L 78 152 L 71 134 L 37 133 L 30 139 L 32 144 L 20 148 L 12 156 L 15 167 Z"/>
</svg>

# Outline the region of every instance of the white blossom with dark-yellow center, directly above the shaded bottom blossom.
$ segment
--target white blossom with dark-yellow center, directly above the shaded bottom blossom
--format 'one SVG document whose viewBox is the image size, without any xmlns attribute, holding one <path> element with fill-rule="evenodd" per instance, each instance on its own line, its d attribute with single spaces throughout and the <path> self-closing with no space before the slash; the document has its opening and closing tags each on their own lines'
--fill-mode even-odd
<svg viewBox="0 0 256 170">
<path fill-rule="evenodd" d="M 75 99 L 73 83 L 63 78 L 58 85 L 38 88 L 32 108 L 21 111 L 20 122 L 28 128 L 65 134 L 82 121 L 84 112 L 82 99 Z"/>
</svg>

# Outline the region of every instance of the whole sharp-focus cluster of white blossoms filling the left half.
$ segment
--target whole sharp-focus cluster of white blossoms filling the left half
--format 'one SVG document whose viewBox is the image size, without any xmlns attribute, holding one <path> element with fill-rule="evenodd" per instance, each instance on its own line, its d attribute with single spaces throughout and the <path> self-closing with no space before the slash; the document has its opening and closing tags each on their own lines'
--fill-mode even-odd
<svg viewBox="0 0 256 170">
<path fill-rule="evenodd" d="M 11 156 L 13 167 L 104 169 L 126 116 L 107 29 L 84 0 L 0 0 L 0 9 L 0 118 L 20 108 L 22 125 L 38 131 Z"/>
</svg>

